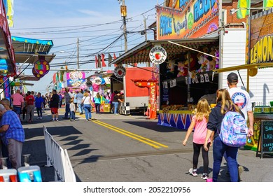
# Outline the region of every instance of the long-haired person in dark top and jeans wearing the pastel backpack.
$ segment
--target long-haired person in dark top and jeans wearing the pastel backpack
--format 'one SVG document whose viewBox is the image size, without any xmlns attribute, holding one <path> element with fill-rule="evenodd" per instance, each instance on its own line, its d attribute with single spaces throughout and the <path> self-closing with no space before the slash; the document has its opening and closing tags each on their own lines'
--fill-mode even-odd
<svg viewBox="0 0 273 196">
<path fill-rule="evenodd" d="M 228 166 L 230 170 L 230 181 L 238 181 L 238 168 L 237 168 L 237 152 L 238 147 L 231 147 L 223 143 L 219 137 L 219 132 L 221 132 L 221 123 L 225 116 L 225 113 L 228 111 L 237 111 L 240 109 L 238 106 L 233 104 L 230 94 L 226 89 L 220 89 L 217 91 L 217 105 L 214 109 L 211 110 L 209 114 L 209 121 L 207 124 L 207 137 L 204 141 L 204 149 L 209 151 L 207 144 L 209 143 L 209 138 L 214 134 L 214 164 L 213 164 L 213 177 L 212 180 L 217 182 L 218 174 L 221 168 L 221 162 L 223 159 L 224 153 L 227 155 Z"/>
</svg>

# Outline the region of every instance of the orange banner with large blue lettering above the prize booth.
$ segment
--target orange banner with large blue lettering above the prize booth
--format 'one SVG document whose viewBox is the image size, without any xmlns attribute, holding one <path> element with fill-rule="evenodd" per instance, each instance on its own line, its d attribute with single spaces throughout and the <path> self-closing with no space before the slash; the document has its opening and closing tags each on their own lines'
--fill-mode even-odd
<svg viewBox="0 0 273 196">
<path fill-rule="evenodd" d="M 218 29 L 218 0 L 177 4 L 179 9 L 156 6 L 158 40 L 198 38 Z"/>
</svg>

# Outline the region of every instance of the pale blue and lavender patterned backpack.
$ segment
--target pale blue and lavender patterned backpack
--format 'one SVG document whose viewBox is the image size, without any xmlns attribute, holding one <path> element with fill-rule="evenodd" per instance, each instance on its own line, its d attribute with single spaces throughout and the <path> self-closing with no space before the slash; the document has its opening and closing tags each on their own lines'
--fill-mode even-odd
<svg viewBox="0 0 273 196">
<path fill-rule="evenodd" d="M 232 147 L 241 147 L 246 144 L 248 127 L 246 120 L 236 111 L 225 113 L 221 123 L 220 139 L 224 144 Z"/>
</svg>

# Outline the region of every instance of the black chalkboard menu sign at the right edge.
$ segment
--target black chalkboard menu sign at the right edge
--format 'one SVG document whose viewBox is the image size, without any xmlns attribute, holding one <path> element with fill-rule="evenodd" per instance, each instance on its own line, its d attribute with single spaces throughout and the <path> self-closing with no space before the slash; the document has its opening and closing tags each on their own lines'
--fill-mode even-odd
<svg viewBox="0 0 273 196">
<path fill-rule="evenodd" d="M 262 120 L 260 144 L 261 158 L 263 154 L 273 153 L 273 120 Z"/>
</svg>

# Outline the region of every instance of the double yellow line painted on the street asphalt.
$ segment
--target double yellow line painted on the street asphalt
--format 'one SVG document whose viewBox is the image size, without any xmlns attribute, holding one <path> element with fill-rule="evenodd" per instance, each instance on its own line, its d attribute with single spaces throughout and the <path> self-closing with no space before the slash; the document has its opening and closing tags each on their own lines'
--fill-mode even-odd
<svg viewBox="0 0 273 196">
<path fill-rule="evenodd" d="M 99 120 L 92 120 L 93 123 L 96 123 L 98 125 L 102 125 L 103 127 L 107 127 L 109 128 L 110 130 L 113 130 L 115 132 L 119 132 L 120 134 L 124 134 L 125 136 L 127 137 L 131 137 L 132 139 L 136 139 L 138 141 L 141 141 L 145 144 L 148 144 L 149 146 L 153 146 L 155 148 L 161 148 L 161 147 L 164 147 L 164 148 L 169 148 L 169 146 L 166 146 L 164 144 L 160 144 L 156 141 L 153 141 L 151 139 L 148 139 L 146 137 L 141 137 L 140 135 L 138 134 L 133 134 L 132 132 L 128 132 L 128 131 L 125 131 L 123 129 L 120 129 L 118 127 L 115 127 L 113 125 L 109 125 L 107 123 L 103 123 L 102 121 L 99 121 Z M 145 141 L 146 140 L 146 141 Z M 155 145 L 156 144 L 156 145 Z"/>
</svg>

